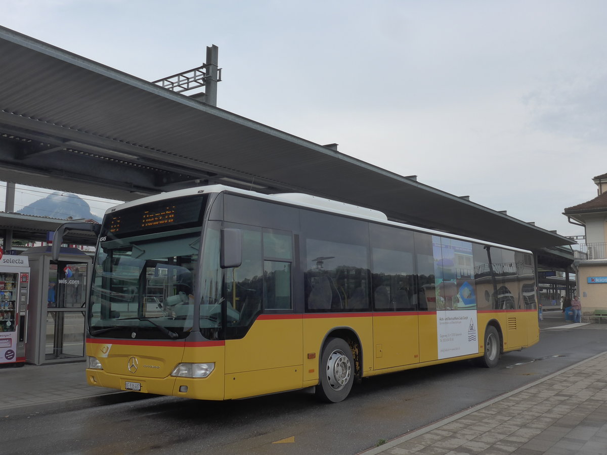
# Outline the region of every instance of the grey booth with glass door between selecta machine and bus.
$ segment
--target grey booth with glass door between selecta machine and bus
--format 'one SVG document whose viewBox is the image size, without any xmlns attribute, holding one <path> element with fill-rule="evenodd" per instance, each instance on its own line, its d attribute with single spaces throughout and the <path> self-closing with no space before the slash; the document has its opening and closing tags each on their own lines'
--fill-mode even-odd
<svg viewBox="0 0 607 455">
<path fill-rule="evenodd" d="M 84 360 L 84 330 L 92 258 L 76 248 L 61 248 L 52 260 L 50 246 L 22 252 L 29 258 L 30 292 L 25 361 Z"/>
</svg>

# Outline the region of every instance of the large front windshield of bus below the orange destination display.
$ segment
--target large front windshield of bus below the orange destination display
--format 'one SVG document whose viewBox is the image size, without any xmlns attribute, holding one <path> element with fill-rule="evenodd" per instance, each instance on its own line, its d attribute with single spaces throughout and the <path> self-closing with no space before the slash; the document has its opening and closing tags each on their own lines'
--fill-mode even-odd
<svg viewBox="0 0 607 455">
<path fill-rule="evenodd" d="M 90 334 L 185 338 L 194 328 L 199 249 L 200 229 L 102 240 L 93 271 Z"/>
</svg>

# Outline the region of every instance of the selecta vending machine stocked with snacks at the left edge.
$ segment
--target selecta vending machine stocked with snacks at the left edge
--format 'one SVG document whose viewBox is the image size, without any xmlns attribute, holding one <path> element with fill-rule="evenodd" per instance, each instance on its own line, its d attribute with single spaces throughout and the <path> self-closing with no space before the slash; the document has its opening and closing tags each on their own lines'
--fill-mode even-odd
<svg viewBox="0 0 607 455">
<path fill-rule="evenodd" d="M 0 248 L 0 365 L 25 363 L 29 284 L 29 258 Z"/>
</svg>

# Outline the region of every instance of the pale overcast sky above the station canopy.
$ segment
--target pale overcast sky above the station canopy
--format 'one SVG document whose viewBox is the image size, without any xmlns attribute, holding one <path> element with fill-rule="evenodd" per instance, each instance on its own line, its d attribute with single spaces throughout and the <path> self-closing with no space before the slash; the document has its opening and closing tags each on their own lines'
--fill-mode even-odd
<svg viewBox="0 0 607 455">
<path fill-rule="evenodd" d="M 0 5 L 5 27 L 149 81 L 215 44 L 222 109 L 563 235 L 607 172 L 604 0 Z"/>
</svg>

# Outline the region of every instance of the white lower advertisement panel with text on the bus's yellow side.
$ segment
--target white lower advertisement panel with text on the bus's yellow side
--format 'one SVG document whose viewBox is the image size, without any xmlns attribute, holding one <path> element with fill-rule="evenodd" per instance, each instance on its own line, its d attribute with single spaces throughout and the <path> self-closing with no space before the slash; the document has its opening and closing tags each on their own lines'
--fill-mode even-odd
<svg viewBox="0 0 607 455">
<path fill-rule="evenodd" d="M 439 359 L 478 354 L 476 311 L 437 311 L 436 328 Z"/>
</svg>

